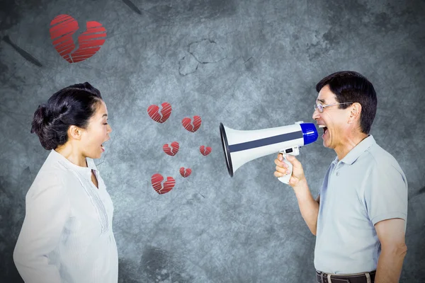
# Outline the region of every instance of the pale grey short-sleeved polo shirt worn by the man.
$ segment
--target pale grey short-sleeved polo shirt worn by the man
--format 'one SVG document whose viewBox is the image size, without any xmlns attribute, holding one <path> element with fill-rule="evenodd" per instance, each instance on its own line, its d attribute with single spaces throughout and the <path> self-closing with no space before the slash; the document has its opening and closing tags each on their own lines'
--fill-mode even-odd
<svg viewBox="0 0 425 283">
<path fill-rule="evenodd" d="M 350 274 L 376 270 L 378 221 L 407 221 L 407 179 L 372 135 L 332 161 L 319 192 L 314 267 Z M 405 228 L 404 228 L 405 229 Z"/>
</svg>

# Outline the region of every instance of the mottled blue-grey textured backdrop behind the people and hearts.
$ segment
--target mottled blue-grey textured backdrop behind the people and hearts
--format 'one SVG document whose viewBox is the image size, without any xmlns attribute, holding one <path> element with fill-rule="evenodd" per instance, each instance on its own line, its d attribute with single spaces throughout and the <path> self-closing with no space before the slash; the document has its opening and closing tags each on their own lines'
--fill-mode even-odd
<svg viewBox="0 0 425 283">
<path fill-rule="evenodd" d="M 290 187 L 273 177 L 275 155 L 230 178 L 219 124 L 261 129 L 312 122 L 315 83 L 359 71 L 374 83 L 372 134 L 409 181 L 407 246 L 400 282 L 425 282 L 424 1 L 1 1 L 8 35 L 42 67 L 0 42 L 0 272 L 21 282 L 12 252 L 24 197 L 48 152 L 30 122 L 38 104 L 89 81 L 106 100 L 113 132 L 96 160 L 115 204 L 120 282 L 314 282 L 314 236 Z M 67 13 L 107 30 L 101 50 L 69 64 L 50 21 Z M 77 37 L 76 37 L 77 38 Z M 164 124 L 147 115 L 171 103 Z M 200 115 L 196 133 L 183 117 Z M 162 144 L 179 141 L 176 156 Z M 198 147 L 212 147 L 202 156 Z M 322 139 L 301 151 L 310 190 L 335 153 Z M 181 178 L 179 168 L 193 173 Z M 176 178 L 157 195 L 151 175 Z"/>
</svg>

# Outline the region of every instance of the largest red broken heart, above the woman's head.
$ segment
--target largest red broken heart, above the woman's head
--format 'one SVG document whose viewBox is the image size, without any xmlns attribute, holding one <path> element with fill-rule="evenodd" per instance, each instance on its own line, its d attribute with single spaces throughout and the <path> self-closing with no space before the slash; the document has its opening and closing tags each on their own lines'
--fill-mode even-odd
<svg viewBox="0 0 425 283">
<path fill-rule="evenodd" d="M 86 23 L 86 31 L 78 37 L 78 49 L 72 35 L 79 29 L 77 21 L 69 15 L 56 16 L 50 25 L 50 39 L 53 41 L 55 50 L 69 63 L 84 61 L 92 57 L 101 49 L 106 39 L 106 28 L 101 23 L 89 21 Z"/>
</svg>

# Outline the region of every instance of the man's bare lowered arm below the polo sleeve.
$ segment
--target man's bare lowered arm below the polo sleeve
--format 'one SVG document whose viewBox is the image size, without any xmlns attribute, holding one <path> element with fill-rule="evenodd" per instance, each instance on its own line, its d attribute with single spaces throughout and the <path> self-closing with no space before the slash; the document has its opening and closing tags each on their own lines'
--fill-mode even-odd
<svg viewBox="0 0 425 283">
<path fill-rule="evenodd" d="M 407 246 L 404 243 L 404 220 L 387 219 L 375 224 L 381 243 L 375 283 L 397 283 L 402 273 Z"/>
</svg>

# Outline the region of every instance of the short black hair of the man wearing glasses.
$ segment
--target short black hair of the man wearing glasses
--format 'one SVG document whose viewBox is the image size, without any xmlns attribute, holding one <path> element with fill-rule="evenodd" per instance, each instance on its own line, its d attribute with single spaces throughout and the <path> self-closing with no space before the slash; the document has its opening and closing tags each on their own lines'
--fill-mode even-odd
<svg viewBox="0 0 425 283">
<path fill-rule="evenodd" d="M 337 71 L 319 81 L 316 85 L 316 91 L 319 92 L 326 85 L 329 85 L 329 89 L 335 94 L 336 102 L 361 104 L 361 132 L 369 134 L 370 127 L 375 119 L 377 105 L 373 84 L 356 71 Z M 341 104 L 338 107 L 346 109 L 350 105 Z"/>
</svg>

